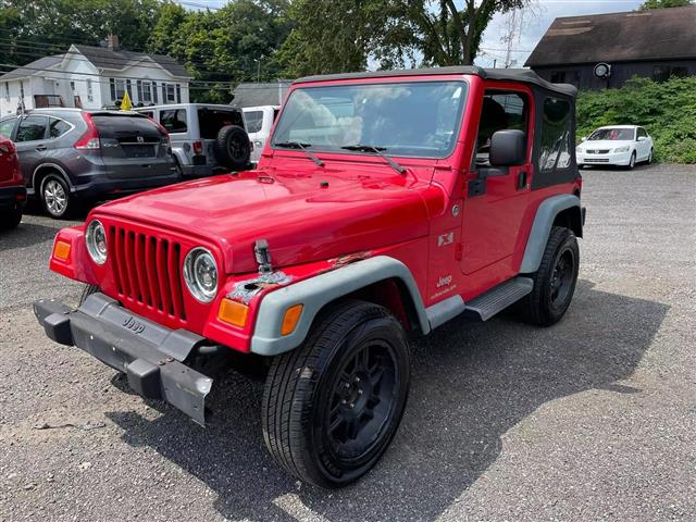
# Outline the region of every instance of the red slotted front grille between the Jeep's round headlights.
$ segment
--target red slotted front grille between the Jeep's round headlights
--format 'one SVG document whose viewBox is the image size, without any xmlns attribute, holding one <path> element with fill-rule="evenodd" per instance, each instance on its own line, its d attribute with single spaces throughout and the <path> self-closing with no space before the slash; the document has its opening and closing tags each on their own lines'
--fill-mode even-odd
<svg viewBox="0 0 696 522">
<path fill-rule="evenodd" d="M 109 238 L 109 258 L 119 297 L 186 321 L 181 245 L 123 226 L 110 226 Z"/>
</svg>

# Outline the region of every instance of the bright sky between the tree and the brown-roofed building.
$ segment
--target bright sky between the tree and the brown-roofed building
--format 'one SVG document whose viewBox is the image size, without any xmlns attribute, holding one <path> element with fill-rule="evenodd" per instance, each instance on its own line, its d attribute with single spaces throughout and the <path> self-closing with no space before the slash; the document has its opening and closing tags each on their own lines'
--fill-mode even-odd
<svg viewBox="0 0 696 522">
<path fill-rule="evenodd" d="M 521 67 L 530 55 L 530 52 L 538 44 L 548 26 L 559 16 L 577 16 L 583 14 L 618 13 L 634 11 L 643 3 L 643 0 L 532 0 L 532 4 L 524 11 L 522 27 L 520 30 L 520 12 L 515 14 L 517 35 L 511 48 L 514 52 L 510 59 L 517 60 L 511 66 Z M 496 14 L 486 28 L 481 41 L 477 65 L 492 67 L 505 64 L 507 55 L 506 37 L 508 35 L 509 14 Z"/>
</svg>

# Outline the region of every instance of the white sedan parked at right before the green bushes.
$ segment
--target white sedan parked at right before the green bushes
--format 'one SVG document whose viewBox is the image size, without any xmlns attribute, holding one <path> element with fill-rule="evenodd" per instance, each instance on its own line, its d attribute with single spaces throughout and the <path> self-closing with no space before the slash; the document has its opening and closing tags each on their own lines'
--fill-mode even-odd
<svg viewBox="0 0 696 522">
<path fill-rule="evenodd" d="M 652 162 L 652 138 L 637 125 L 599 127 L 575 149 L 577 165 L 621 165 L 633 169 Z"/>
</svg>

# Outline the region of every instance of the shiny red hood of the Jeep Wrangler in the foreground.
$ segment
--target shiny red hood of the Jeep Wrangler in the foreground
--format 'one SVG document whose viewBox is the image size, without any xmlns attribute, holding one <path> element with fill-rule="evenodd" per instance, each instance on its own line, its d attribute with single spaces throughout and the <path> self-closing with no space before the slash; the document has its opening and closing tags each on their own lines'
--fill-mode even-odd
<svg viewBox="0 0 696 522">
<path fill-rule="evenodd" d="M 226 273 L 258 269 L 253 244 L 266 239 L 281 268 L 371 250 L 427 234 L 413 176 L 250 171 L 160 188 L 99 207 L 108 214 L 212 240 Z"/>
</svg>

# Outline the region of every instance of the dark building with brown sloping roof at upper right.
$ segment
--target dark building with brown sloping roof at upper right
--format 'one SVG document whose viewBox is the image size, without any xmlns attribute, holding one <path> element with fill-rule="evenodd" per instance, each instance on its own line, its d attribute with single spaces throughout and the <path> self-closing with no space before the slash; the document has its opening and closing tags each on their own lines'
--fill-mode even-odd
<svg viewBox="0 0 696 522">
<path fill-rule="evenodd" d="M 607 77 L 594 74 L 599 63 L 610 65 Z M 525 66 L 581 89 L 696 75 L 696 5 L 556 18 Z"/>
</svg>

